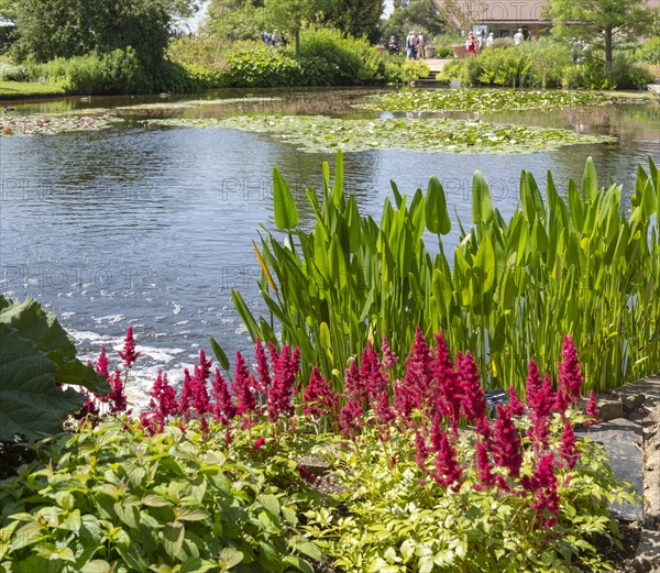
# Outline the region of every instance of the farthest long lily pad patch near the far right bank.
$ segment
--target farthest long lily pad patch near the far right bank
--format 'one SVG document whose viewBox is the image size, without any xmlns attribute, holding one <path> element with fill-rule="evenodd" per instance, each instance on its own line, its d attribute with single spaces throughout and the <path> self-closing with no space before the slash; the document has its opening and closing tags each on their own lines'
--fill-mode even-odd
<svg viewBox="0 0 660 573">
<path fill-rule="evenodd" d="M 519 111 L 614 103 L 617 98 L 597 91 L 447 89 L 405 90 L 371 96 L 355 107 L 382 111 Z"/>
</svg>

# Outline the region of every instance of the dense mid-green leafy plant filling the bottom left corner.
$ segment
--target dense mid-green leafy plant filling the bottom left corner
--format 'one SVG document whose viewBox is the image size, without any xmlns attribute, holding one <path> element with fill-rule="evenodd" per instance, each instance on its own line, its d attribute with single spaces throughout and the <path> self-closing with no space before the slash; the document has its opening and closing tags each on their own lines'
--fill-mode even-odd
<svg viewBox="0 0 660 573">
<path fill-rule="evenodd" d="M 38 453 L 0 486 L 3 573 L 311 573 L 320 558 L 299 529 L 295 462 L 231 455 L 223 432 L 103 422 Z"/>
</svg>

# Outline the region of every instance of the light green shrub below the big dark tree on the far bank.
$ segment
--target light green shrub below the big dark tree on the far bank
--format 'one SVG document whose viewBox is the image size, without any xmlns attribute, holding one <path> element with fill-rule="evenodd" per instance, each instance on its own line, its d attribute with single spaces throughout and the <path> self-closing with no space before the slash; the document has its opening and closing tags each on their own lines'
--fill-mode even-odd
<svg viewBox="0 0 660 573">
<path fill-rule="evenodd" d="M 107 54 L 55 58 L 45 66 L 51 81 L 73 93 L 141 93 L 157 89 L 132 47 Z"/>
</svg>

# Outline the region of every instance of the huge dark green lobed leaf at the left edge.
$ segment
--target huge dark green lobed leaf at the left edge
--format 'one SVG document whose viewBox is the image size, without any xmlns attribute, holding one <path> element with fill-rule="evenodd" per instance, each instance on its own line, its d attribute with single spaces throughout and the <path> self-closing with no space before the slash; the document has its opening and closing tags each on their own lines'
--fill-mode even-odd
<svg viewBox="0 0 660 573">
<path fill-rule="evenodd" d="M 72 338 L 33 298 L 19 304 L 0 295 L 0 440 L 34 440 L 62 431 L 63 416 L 85 401 L 76 389 L 109 390 L 94 368 L 76 359 Z"/>
</svg>

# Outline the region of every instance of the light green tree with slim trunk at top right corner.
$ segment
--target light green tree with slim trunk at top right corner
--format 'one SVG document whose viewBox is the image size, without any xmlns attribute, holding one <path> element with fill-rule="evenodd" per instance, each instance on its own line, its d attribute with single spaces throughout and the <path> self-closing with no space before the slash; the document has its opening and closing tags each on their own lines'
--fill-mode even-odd
<svg viewBox="0 0 660 573">
<path fill-rule="evenodd" d="M 578 26 L 588 37 L 603 41 L 607 70 L 612 69 L 615 38 L 650 27 L 653 19 L 645 0 L 550 0 L 548 8 L 556 35 L 575 35 Z"/>
</svg>

